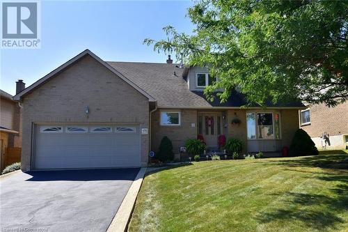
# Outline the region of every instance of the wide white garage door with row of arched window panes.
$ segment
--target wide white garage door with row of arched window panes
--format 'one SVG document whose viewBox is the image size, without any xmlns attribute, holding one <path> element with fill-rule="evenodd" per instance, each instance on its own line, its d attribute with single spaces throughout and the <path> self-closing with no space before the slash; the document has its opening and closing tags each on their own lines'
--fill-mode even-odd
<svg viewBox="0 0 348 232">
<path fill-rule="evenodd" d="M 35 169 L 140 167 L 139 125 L 36 125 Z"/>
</svg>

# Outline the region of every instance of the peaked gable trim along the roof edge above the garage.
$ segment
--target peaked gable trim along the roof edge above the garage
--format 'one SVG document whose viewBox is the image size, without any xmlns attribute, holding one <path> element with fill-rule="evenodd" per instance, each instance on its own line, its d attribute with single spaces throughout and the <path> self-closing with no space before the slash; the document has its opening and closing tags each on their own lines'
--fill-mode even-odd
<svg viewBox="0 0 348 232">
<path fill-rule="evenodd" d="M 111 70 L 111 72 L 113 72 L 115 75 L 120 77 L 120 79 L 122 79 L 123 81 L 127 82 L 127 84 L 129 84 L 130 86 L 135 88 L 137 91 L 139 91 L 139 93 L 143 94 L 146 98 L 148 98 L 148 100 L 150 102 L 154 102 L 155 101 L 155 98 L 153 98 L 150 94 L 148 94 L 142 88 L 140 88 L 139 86 L 134 84 L 134 82 L 132 82 L 130 79 L 128 79 L 127 77 L 122 75 L 120 72 L 118 72 L 118 70 L 116 70 L 115 68 L 111 67 L 111 65 L 109 65 L 109 63 L 106 63 L 105 61 L 100 59 L 100 57 L 95 55 L 93 52 L 90 52 L 89 49 L 86 49 L 86 50 L 84 50 L 84 52 L 81 52 L 77 56 L 74 56 L 74 58 L 70 59 L 66 63 L 63 63 L 63 65 L 59 66 L 58 68 L 56 68 L 52 72 L 49 72 L 49 74 L 45 75 L 45 77 L 42 77 L 41 79 L 39 79 L 37 82 L 35 82 L 31 86 L 29 86 L 28 88 L 25 88 L 23 91 L 21 91 L 20 93 L 15 95 L 13 97 L 13 100 L 20 100 L 24 95 L 26 95 L 27 93 L 30 93 L 31 91 L 35 90 L 35 88 L 38 88 L 38 86 L 40 86 L 42 84 L 45 84 L 45 82 L 47 82 L 49 79 L 54 77 L 56 74 L 58 74 L 59 72 L 62 72 L 63 70 L 68 68 L 70 65 L 72 65 L 73 63 L 79 61 L 82 57 L 84 57 L 86 55 L 92 56 L 93 59 L 95 59 L 96 61 L 98 61 L 102 65 L 104 65 L 105 68 Z"/>
</svg>

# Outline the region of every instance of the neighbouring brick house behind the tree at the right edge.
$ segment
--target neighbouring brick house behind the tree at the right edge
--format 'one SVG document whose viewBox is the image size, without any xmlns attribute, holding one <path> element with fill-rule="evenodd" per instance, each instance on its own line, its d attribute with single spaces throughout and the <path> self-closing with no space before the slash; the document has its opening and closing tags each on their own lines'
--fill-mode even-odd
<svg viewBox="0 0 348 232">
<path fill-rule="evenodd" d="M 300 127 L 306 130 L 319 149 L 347 148 L 348 102 L 336 107 L 319 104 L 301 110 Z"/>
</svg>

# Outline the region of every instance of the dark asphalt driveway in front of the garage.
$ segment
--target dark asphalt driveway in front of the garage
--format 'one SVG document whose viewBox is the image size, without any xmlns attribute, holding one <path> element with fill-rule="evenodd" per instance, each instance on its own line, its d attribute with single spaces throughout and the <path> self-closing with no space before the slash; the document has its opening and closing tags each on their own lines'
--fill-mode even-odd
<svg viewBox="0 0 348 232">
<path fill-rule="evenodd" d="M 33 171 L 4 178 L 1 231 L 106 231 L 138 171 Z"/>
</svg>

